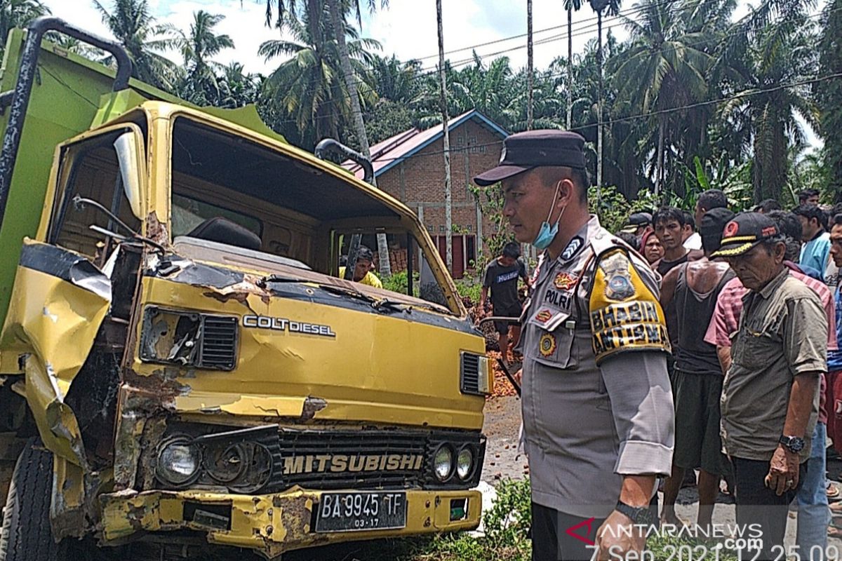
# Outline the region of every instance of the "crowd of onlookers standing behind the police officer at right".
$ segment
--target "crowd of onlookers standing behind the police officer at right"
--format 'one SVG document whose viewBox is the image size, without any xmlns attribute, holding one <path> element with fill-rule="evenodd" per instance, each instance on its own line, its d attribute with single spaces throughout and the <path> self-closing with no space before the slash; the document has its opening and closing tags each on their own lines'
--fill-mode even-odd
<svg viewBox="0 0 842 561">
<path fill-rule="evenodd" d="M 770 532 L 782 539 L 786 510 L 792 503 L 797 507 L 799 548 L 808 552 L 818 546 L 824 551 L 828 535 L 842 537 L 832 516 L 842 515 L 842 503 L 833 502 L 839 498 L 839 489 L 826 477 L 826 458 L 838 456 L 834 446 L 842 449 L 842 410 L 837 412 L 839 408 L 834 405 L 842 404 L 842 377 L 834 388 L 842 367 L 838 350 L 842 331 L 836 327 L 842 325 L 842 295 L 837 286 L 842 265 L 842 205 L 821 207 L 818 192 L 806 191 L 800 193 L 799 204 L 790 211 L 781 209 L 774 200 L 736 216 L 727 207 L 725 194 L 711 189 L 701 193 L 695 216 L 669 207 L 653 214 L 635 213 L 617 232 L 663 278 L 660 302 L 673 351 L 668 362 L 675 406 L 675 448 L 672 473 L 663 484 L 661 521 L 683 523 L 675 515 L 675 501 L 682 486 L 697 484 L 697 523 L 709 525 L 722 480 L 722 492 L 734 493 L 737 489 L 745 499 L 740 501 L 738 495 L 738 505 L 743 502 L 752 507 L 748 511 L 738 508 L 738 519 L 764 520 Z M 838 239 L 833 237 L 834 228 Z M 733 267 L 738 254 L 721 248 L 723 230 L 726 241 L 745 238 L 733 242 L 743 246 L 749 244 L 749 236 L 756 236 L 751 243 L 772 252 L 762 257 L 771 258 L 779 249 L 780 267 L 770 268 L 763 277 L 763 267 L 771 267 L 773 261 L 748 264 L 743 268 L 749 270 L 741 276 Z M 741 236 L 746 231 L 749 233 Z M 694 235 L 701 237 L 701 251 L 692 240 Z M 780 246 L 774 245 L 778 243 Z M 748 308 L 752 319 L 742 319 L 750 337 L 741 338 L 741 315 L 748 304 L 745 296 L 753 288 L 747 278 L 755 283 L 769 281 L 762 284 L 766 288 L 778 280 L 771 277 L 772 273 L 800 283 L 797 288 L 801 288 L 801 294 L 766 296 L 761 290 L 764 302 L 755 302 L 758 299 L 754 298 Z M 804 294 L 802 287 L 810 292 Z M 761 308 L 768 299 L 782 299 L 783 311 L 779 309 L 781 304 Z M 791 325 L 780 325 L 783 315 Z M 772 343 L 775 336 L 781 336 L 781 329 L 785 330 L 782 344 L 776 348 Z M 737 343 L 743 347 L 732 353 Z M 797 437 L 804 442 L 796 442 L 794 447 L 798 448 L 798 458 L 805 460 L 805 469 L 800 474 L 797 468 L 786 469 L 789 479 L 784 479 L 785 492 L 781 494 L 765 492 L 769 490 L 763 483 L 770 462 L 765 456 L 770 447 L 758 446 L 757 442 L 765 438 L 776 446 L 786 437 L 776 434 L 775 426 L 781 424 L 787 408 L 797 406 L 792 403 L 792 389 L 802 379 L 795 376 L 791 364 L 775 357 L 776 352 L 795 353 L 797 368 L 818 373 L 820 387 L 812 434 Z M 746 378 L 755 374 L 757 379 L 737 387 L 740 380 L 733 373 L 728 380 L 732 384 L 723 389 L 729 368 L 747 369 Z M 754 388 L 754 384 L 759 387 Z M 813 426 L 811 404 L 812 398 L 805 397 L 805 428 L 807 423 Z M 722 452 L 723 438 L 730 461 Z M 693 470 L 699 470 L 697 481 Z M 753 489 L 758 485 L 759 489 Z"/>
</svg>

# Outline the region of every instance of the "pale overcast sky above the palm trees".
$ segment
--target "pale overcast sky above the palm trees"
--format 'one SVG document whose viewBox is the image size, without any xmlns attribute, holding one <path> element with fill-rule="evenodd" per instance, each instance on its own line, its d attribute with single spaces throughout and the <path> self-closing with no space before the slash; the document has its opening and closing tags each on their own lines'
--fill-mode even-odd
<svg viewBox="0 0 842 561">
<path fill-rule="evenodd" d="M 109 36 L 99 12 L 90 0 L 42 0 L 52 13 L 83 29 Z M 111 0 L 100 0 L 110 8 Z M 159 23 L 174 24 L 189 30 L 193 13 L 203 9 L 219 13 L 225 19 L 217 26 L 217 33 L 231 36 L 235 48 L 224 50 L 216 60 L 221 63 L 239 61 L 247 71 L 268 74 L 279 60 L 266 62 L 258 56 L 258 47 L 266 40 L 279 39 L 277 29 L 264 24 L 264 0 L 148 0 L 152 14 Z M 360 2 L 363 6 L 368 3 Z M 821 5 L 825 0 L 820 0 Z M 303 3 L 299 3 L 303 4 Z M 379 4 L 379 3 L 378 3 Z M 525 66 L 526 2 L 512 0 L 443 0 L 443 27 L 445 51 L 451 62 L 465 61 L 471 57 L 471 48 L 490 61 L 495 56 L 509 56 L 514 68 Z M 573 14 L 573 50 L 581 51 L 584 44 L 596 37 L 594 12 L 584 3 L 583 9 Z M 624 2 L 623 12 L 634 16 L 634 3 Z M 533 0 L 533 27 L 535 35 L 536 68 L 545 68 L 557 56 L 566 56 L 567 13 L 561 0 Z M 747 12 L 749 3 L 738 0 L 739 17 Z M 627 36 L 619 18 L 605 18 L 605 33 Z M 390 0 L 388 8 L 377 13 L 364 13 L 362 35 L 381 42 L 381 54 L 395 54 L 401 60 L 421 59 L 425 68 L 437 62 L 438 40 L 434 0 Z M 493 42 L 493 43 L 492 43 Z M 484 45 L 492 43 L 490 45 Z M 453 51 L 453 52 L 451 52 Z M 174 61 L 178 56 L 170 55 Z M 816 144 L 812 131 L 807 131 L 812 144 Z"/>
</svg>

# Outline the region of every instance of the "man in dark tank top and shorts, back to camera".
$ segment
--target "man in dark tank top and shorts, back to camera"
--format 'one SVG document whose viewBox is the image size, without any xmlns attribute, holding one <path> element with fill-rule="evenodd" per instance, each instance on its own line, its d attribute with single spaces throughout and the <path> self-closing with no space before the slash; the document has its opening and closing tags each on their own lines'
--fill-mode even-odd
<svg viewBox="0 0 842 561">
<path fill-rule="evenodd" d="M 719 249 L 722 229 L 733 218 L 728 209 L 711 209 L 701 219 L 701 241 L 705 257 L 672 268 L 663 278 L 661 305 L 674 304 L 675 452 L 672 475 L 663 486 L 664 523 L 680 524 L 675 500 L 685 470 L 701 468 L 699 474 L 698 525 L 708 527 L 719 492 L 719 478 L 725 468 L 719 437 L 719 397 L 722 369 L 717 347 L 704 341 L 707 325 L 717 304 L 717 295 L 733 278 L 727 262 L 710 259 Z"/>
</svg>

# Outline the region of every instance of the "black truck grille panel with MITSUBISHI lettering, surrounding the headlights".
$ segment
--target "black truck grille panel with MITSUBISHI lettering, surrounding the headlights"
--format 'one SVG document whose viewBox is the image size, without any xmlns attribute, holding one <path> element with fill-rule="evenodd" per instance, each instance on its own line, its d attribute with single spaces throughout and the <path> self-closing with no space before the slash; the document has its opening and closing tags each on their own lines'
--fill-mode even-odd
<svg viewBox="0 0 842 561">
<path fill-rule="evenodd" d="M 186 484 L 167 483 L 157 471 L 147 474 L 169 489 L 221 484 L 232 493 L 248 495 L 278 493 L 295 485 L 312 490 L 470 489 L 479 484 L 485 456 L 485 437 L 477 431 L 279 429 L 265 425 L 209 432 L 193 423 L 170 428 L 175 438 L 192 439 L 203 461 L 195 479 Z M 190 433 L 195 436 L 187 436 Z M 453 473 L 444 481 L 435 478 L 432 458 L 443 446 L 454 453 L 470 448 L 475 466 L 470 476 L 459 479 Z M 156 454 L 152 463 L 159 462 L 159 451 L 150 452 Z M 233 457 L 245 466 L 243 471 L 232 473 L 232 467 L 240 464 L 228 461 Z M 144 488 L 152 487 L 144 484 Z"/>
</svg>

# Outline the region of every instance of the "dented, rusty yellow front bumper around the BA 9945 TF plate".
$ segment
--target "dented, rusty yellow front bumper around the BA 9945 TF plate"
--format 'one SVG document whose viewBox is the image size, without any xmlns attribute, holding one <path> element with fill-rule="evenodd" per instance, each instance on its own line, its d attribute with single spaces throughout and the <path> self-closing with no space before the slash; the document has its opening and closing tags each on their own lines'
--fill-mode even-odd
<svg viewBox="0 0 842 561">
<path fill-rule="evenodd" d="M 123 492 L 101 496 L 105 544 L 144 532 L 195 530 L 209 543 L 250 548 L 273 558 L 285 551 L 331 542 L 470 530 L 479 525 L 482 496 L 475 490 L 407 490 L 407 525 L 393 530 L 313 532 L 322 491 L 301 488 L 271 495 L 205 491 Z M 465 516 L 451 521 L 450 501 L 467 499 Z M 158 541 L 166 534 L 157 536 Z M 173 537 L 173 539 L 179 539 Z"/>
</svg>

